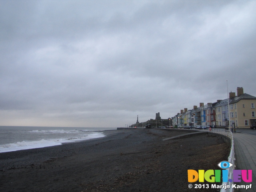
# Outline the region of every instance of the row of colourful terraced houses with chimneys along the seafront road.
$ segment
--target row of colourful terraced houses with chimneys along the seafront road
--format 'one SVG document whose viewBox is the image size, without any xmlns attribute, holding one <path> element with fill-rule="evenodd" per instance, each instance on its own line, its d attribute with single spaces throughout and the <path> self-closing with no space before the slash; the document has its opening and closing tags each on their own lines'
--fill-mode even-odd
<svg viewBox="0 0 256 192">
<path fill-rule="evenodd" d="M 228 99 L 205 105 L 200 103 L 199 107 L 194 106 L 192 110 L 180 110 L 172 117 L 172 125 L 180 128 L 197 125 L 249 128 L 251 124 L 256 124 L 255 104 L 256 97 L 244 93 L 244 89 L 238 87 L 237 96 L 230 92 Z"/>
</svg>

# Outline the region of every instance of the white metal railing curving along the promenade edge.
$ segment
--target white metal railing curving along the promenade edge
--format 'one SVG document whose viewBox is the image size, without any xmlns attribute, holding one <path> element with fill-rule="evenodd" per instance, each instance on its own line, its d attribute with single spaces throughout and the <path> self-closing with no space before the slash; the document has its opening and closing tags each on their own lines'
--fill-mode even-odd
<svg viewBox="0 0 256 192">
<path fill-rule="evenodd" d="M 232 163 L 233 166 L 228 168 L 228 182 L 222 182 L 222 186 L 224 185 L 229 185 L 230 188 L 227 188 L 226 190 L 224 190 L 223 188 L 220 190 L 220 192 L 233 192 L 232 189 L 232 184 L 233 181 L 230 182 L 230 179 L 233 180 L 233 170 L 235 168 L 235 150 L 234 150 L 234 140 L 233 140 L 233 134 L 230 130 L 224 130 L 224 129 L 210 129 L 209 132 L 211 133 L 217 133 L 217 134 L 222 134 L 227 136 L 228 138 L 230 138 L 230 142 L 231 142 L 231 148 L 230 148 L 230 154 L 228 156 L 228 162 Z"/>
</svg>

